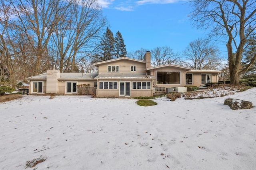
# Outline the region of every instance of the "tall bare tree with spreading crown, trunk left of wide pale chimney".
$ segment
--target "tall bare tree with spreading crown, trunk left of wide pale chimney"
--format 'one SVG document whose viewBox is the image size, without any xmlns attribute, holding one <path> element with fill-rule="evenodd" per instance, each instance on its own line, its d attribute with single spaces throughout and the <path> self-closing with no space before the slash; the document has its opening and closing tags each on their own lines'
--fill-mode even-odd
<svg viewBox="0 0 256 170">
<path fill-rule="evenodd" d="M 5 4 L 13 11 L 14 29 L 20 29 L 33 48 L 36 55 L 34 74 L 40 74 L 50 36 L 64 21 L 72 0 L 6 0 Z"/>
</svg>

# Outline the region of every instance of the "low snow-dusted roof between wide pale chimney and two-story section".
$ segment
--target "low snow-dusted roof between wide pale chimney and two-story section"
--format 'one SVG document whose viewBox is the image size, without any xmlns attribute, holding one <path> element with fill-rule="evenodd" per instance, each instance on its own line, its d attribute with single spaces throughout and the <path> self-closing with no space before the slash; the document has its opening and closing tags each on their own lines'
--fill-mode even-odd
<svg viewBox="0 0 256 170">
<path fill-rule="evenodd" d="M 58 80 L 84 80 L 94 79 L 98 73 L 62 72 Z"/>
</svg>

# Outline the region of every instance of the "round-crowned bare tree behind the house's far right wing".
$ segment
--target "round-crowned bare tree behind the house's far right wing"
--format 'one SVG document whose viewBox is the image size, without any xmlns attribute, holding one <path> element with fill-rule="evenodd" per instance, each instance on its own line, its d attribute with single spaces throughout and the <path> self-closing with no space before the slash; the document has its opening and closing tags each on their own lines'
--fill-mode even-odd
<svg viewBox="0 0 256 170">
<path fill-rule="evenodd" d="M 183 51 L 183 56 L 187 59 L 184 64 L 197 70 L 216 69 L 223 61 L 219 54 L 218 49 L 210 43 L 209 39 L 198 38 L 190 42 Z"/>
</svg>

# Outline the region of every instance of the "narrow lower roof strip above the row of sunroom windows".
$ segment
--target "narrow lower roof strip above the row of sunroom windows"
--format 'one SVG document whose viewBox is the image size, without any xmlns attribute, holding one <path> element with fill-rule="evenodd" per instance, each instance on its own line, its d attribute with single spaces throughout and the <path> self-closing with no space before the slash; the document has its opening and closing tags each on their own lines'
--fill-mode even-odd
<svg viewBox="0 0 256 170">
<path fill-rule="evenodd" d="M 145 73 L 101 73 L 95 78 L 155 78 Z"/>
</svg>

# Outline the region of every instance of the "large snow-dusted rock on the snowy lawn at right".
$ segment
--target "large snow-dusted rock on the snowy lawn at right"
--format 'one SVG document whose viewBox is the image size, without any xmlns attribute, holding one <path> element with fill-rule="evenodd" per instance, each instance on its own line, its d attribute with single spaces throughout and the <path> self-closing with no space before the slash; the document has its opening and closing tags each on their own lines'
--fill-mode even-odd
<svg viewBox="0 0 256 170">
<path fill-rule="evenodd" d="M 228 98 L 225 100 L 224 104 L 228 105 L 233 110 L 252 108 L 252 102 L 239 99 Z"/>
</svg>

